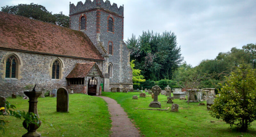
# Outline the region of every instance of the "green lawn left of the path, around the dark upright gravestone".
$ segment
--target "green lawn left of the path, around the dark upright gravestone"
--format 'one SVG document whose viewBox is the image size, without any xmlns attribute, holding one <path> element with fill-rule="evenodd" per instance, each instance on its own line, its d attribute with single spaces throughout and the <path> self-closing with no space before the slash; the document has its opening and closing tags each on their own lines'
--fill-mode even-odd
<svg viewBox="0 0 256 137">
<path fill-rule="evenodd" d="M 28 100 L 21 97 L 16 99 L 6 98 L 15 105 L 18 110 L 28 111 Z M 37 132 L 47 137 L 108 137 L 110 134 L 111 120 L 107 103 L 100 97 L 92 97 L 84 94 L 69 95 L 69 112 L 56 112 L 56 97 L 38 98 L 38 115 L 41 119 L 59 126 L 61 131 L 42 123 Z M 2 116 L 0 116 L 2 117 Z M 27 131 L 22 126 L 23 120 L 13 117 L 5 117 L 7 131 L 0 131 L 0 136 L 22 136 Z M 62 134 L 61 134 L 62 132 Z"/>
</svg>

